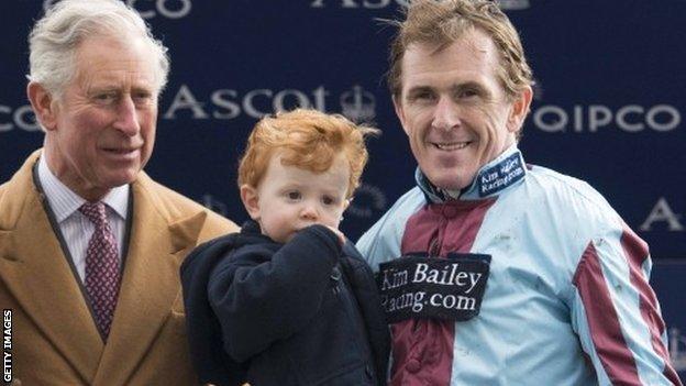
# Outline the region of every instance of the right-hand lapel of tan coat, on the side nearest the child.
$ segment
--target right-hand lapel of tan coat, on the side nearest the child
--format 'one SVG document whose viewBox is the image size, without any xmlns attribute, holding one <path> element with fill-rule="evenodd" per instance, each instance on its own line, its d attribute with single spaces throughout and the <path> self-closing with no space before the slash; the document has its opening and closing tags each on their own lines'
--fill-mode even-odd
<svg viewBox="0 0 686 386">
<path fill-rule="evenodd" d="M 179 265 L 196 245 L 206 213 L 172 222 L 150 179 L 132 185 L 133 224 L 117 310 L 96 384 L 125 384 L 169 318 Z"/>
</svg>

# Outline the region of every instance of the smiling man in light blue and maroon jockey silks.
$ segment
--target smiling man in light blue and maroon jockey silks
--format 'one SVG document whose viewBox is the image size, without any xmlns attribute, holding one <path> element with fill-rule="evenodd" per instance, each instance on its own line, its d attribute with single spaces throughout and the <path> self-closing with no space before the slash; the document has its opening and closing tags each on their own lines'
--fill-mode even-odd
<svg viewBox="0 0 686 386">
<path fill-rule="evenodd" d="M 390 384 L 681 385 L 648 245 L 517 147 L 532 76 L 507 16 L 417 0 L 398 25 L 388 80 L 418 186 L 357 244 L 394 323 Z"/>
</svg>

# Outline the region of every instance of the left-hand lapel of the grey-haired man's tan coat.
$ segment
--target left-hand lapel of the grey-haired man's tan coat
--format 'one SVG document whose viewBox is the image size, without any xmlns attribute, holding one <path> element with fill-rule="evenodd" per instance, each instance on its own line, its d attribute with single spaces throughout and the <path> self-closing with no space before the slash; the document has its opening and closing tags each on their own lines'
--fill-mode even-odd
<svg viewBox="0 0 686 386">
<path fill-rule="evenodd" d="M 0 277 L 22 309 L 85 383 L 103 342 L 32 181 L 34 153 L 0 202 Z"/>
</svg>

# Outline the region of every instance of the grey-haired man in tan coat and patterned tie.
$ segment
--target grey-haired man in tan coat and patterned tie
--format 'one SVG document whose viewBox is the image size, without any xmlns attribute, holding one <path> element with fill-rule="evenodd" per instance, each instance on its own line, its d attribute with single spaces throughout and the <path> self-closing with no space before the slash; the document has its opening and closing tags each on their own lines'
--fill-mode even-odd
<svg viewBox="0 0 686 386">
<path fill-rule="evenodd" d="M 0 304 L 24 385 L 189 385 L 178 267 L 231 221 L 153 181 L 166 48 L 117 0 L 64 0 L 31 36 L 44 147 L 0 186 Z"/>
</svg>

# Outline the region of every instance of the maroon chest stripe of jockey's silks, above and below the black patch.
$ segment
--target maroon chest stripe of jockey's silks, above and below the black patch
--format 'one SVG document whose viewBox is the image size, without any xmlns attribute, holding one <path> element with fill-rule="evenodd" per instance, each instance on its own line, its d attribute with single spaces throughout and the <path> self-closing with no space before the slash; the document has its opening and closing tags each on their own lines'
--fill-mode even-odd
<svg viewBox="0 0 686 386">
<path fill-rule="evenodd" d="M 422 208 L 406 224 L 402 253 L 433 251 L 445 257 L 449 252 L 469 252 L 486 212 L 495 202 L 490 198 Z M 407 320 L 391 326 L 391 386 L 450 385 L 454 322 Z"/>
</svg>

